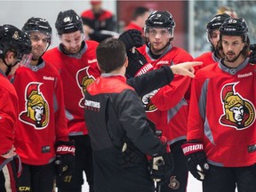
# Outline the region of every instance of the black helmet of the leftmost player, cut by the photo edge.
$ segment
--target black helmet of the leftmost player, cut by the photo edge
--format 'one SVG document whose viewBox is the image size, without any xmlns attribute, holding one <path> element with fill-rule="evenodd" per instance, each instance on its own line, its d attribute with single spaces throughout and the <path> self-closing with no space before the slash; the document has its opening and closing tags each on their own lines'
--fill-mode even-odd
<svg viewBox="0 0 256 192">
<path fill-rule="evenodd" d="M 12 25 L 0 26 L 0 57 L 5 58 L 6 52 L 12 50 L 17 54 L 20 61 L 24 54 L 29 54 L 32 50 L 29 36 L 19 28 Z"/>
</svg>

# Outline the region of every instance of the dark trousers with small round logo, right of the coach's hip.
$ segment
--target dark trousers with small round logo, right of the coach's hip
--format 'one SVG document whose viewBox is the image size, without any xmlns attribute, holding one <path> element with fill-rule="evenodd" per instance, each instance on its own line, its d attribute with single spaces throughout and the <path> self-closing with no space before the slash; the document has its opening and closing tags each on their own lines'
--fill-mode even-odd
<svg viewBox="0 0 256 192">
<path fill-rule="evenodd" d="M 174 170 L 170 180 L 161 186 L 162 192 L 186 192 L 188 186 L 188 169 L 181 145 L 186 140 L 173 143 L 170 148 L 174 159 Z"/>
</svg>

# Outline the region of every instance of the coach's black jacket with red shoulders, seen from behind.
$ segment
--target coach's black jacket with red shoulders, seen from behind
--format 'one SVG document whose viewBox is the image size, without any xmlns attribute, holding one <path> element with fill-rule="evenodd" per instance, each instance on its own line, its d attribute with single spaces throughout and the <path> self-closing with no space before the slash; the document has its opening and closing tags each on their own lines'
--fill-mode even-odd
<svg viewBox="0 0 256 192">
<path fill-rule="evenodd" d="M 102 74 L 85 93 L 84 116 L 93 150 L 94 189 L 100 192 L 154 190 L 146 156 L 131 167 L 120 166 L 124 141 L 129 140 L 127 145 L 134 145 L 143 154 L 160 155 L 165 151 L 149 127 L 140 98 L 125 82 L 124 76 Z"/>
</svg>

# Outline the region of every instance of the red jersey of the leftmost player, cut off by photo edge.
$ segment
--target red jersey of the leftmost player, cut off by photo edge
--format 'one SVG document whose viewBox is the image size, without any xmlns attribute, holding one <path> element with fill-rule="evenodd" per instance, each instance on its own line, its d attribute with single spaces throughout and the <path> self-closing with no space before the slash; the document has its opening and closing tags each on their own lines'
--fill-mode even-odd
<svg viewBox="0 0 256 192">
<path fill-rule="evenodd" d="M 0 155 L 8 152 L 14 143 L 14 133 L 18 120 L 18 96 L 10 81 L 0 70 Z M 12 159 L 11 159 L 12 160 Z M 9 160 L 9 161 L 11 161 Z M 8 159 L 0 156 L 0 170 Z"/>
</svg>

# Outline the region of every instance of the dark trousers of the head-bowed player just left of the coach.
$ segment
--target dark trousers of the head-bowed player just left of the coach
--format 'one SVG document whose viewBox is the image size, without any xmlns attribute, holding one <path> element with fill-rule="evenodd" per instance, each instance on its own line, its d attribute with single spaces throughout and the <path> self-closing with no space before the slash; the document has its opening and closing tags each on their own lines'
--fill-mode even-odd
<svg viewBox="0 0 256 192">
<path fill-rule="evenodd" d="M 83 173 L 85 172 L 90 192 L 93 192 L 93 164 L 92 147 L 89 135 L 72 136 L 70 140 L 75 140 L 76 146 L 76 172 L 69 182 L 63 178 L 57 178 L 58 192 L 81 192 L 84 184 Z"/>
</svg>

